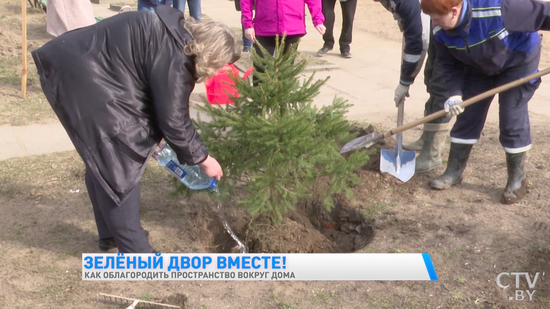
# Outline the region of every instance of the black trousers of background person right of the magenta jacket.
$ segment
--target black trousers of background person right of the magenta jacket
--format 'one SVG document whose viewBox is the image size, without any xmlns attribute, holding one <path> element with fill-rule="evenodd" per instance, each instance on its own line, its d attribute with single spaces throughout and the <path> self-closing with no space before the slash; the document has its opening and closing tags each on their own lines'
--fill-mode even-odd
<svg viewBox="0 0 550 309">
<path fill-rule="evenodd" d="M 334 47 L 334 5 L 339 0 L 322 0 L 324 26 L 327 31 L 324 32 L 323 41 L 324 46 L 328 48 Z M 351 31 L 353 30 L 353 19 L 355 17 L 355 8 L 357 7 L 357 0 L 347 0 L 340 2 L 342 7 L 342 32 L 340 33 L 340 52 L 349 52 L 351 44 Z"/>
</svg>

